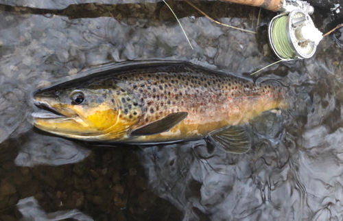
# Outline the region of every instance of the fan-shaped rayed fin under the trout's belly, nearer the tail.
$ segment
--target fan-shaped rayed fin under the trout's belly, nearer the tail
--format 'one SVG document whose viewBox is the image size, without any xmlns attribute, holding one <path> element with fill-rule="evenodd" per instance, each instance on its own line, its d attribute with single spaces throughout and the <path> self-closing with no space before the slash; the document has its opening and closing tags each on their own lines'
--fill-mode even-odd
<svg viewBox="0 0 343 221">
<path fill-rule="evenodd" d="M 241 126 L 229 126 L 215 130 L 209 134 L 208 138 L 215 146 L 220 146 L 227 152 L 235 154 L 244 154 L 251 147 L 250 135 Z"/>
</svg>

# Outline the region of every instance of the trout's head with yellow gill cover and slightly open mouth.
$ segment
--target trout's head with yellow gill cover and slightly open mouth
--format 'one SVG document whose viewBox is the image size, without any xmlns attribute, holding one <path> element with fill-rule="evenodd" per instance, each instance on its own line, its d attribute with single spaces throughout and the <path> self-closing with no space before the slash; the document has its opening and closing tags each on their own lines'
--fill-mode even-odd
<svg viewBox="0 0 343 221">
<path fill-rule="evenodd" d="M 130 93 L 106 83 L 52 86 L 36 91 L 33 100 L 43 109 L 32 114 L 36 128 L 89 141 L 120 139 L 141 115 Z"/>
</svg>

